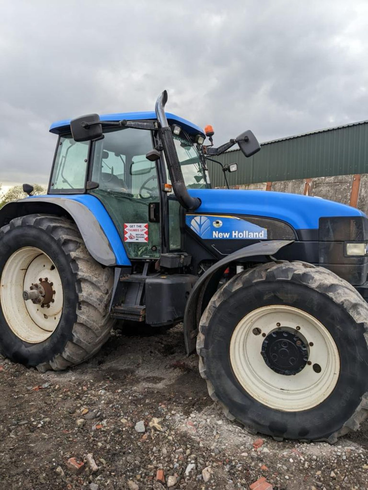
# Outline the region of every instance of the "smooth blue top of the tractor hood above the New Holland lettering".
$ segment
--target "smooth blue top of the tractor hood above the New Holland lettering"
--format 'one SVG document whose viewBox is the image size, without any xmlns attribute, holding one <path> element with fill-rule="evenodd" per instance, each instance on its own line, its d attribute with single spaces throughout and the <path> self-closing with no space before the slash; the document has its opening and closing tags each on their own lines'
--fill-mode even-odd
<svg viewBox="0 0 368 490">
<path fill-rule="evenodd" d="M 363 216 L 359 209 L 320 197 L 300 196 L 273 191 L 234 189 L 189 189 L 199 197 L 196 213 L 263 216 L 286 221 L 294 229 L 316 229 L 319 218 Z"/>
</svg>

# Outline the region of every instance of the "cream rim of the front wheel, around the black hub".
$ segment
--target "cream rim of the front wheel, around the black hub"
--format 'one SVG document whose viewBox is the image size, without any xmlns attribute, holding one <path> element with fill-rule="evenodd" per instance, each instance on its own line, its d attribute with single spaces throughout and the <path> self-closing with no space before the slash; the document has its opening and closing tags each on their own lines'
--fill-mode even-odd
<svg viewBox="0 0 368 490">
<path fill-rule="evenodd" d="M 296 329 L 296 327 L 300 329 Z M 257 335 L 253 333 L 258 330 Z M 295 331 L 308 345 L 307 364 L 294 375 L 275 372 L 261 355 L 265 337 L 277 330 Z M 230 341 L 230 363 L 243 389 L 263 405 L 285 412 L 311 409 L 334 390 L 340 373 L 339 351 L 331 334 L 315 317 L 284 305 L 248 313 L 237 324 Z M 321 371 L 315 372 L 315 365 Z"/>
</svg>

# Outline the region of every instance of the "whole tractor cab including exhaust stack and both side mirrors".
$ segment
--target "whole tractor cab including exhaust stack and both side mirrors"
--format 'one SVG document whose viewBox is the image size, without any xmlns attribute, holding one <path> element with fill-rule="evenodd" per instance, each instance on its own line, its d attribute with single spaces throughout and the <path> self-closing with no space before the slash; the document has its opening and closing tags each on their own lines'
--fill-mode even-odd
<svg viewBox="0 0 368 490">
<path fill-rule="evenodd" d="M 49 194 L 95 196 L 129 259 L 183 251 L 183 210 L 194 210 L 201 202 L 188 190 L 210 188 L 210 155 L 235 143 L 247 156 L 260 149 L 251 131 L 219 148 L 213 147 L 213 130 L 207 131 L 211 145 L 204 146 L 203 130 L 165 113 L 166 100 L 163 92 L 155 112 L 90 114 L 50 128 L 59 139 Z M 223 170 L 225 175 L 228 169 Z"/>
</svg>

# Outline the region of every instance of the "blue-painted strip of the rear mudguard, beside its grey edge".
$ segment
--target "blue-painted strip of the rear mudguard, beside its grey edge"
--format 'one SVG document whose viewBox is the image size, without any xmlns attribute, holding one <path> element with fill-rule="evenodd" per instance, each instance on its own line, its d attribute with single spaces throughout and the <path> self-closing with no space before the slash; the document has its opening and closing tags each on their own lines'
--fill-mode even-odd
<svg viewBox="0 0 368 490">
<path fill-rule="evenodd" d="M 40 197 L 40 196 L 30 196 L 28 199 L 32 199 L 32 197 Z M 63 199 L 71 199 L 83 204 L 86 208 L 88 208 L 91 213 L 94 215 L 96 220 L 100 223 L 101 228 L 103 229 L 107 240 L 110 242 L 112 251 L 116 257 L 116 265 L 118 266 L 130 266 L 131 261 L 128 258 L 127 252 L 125 251 L 123 242 L 120 238 L 120 235 L 111 220 L 109 214 L 105 210 L 103 204 L 97 199 L 95 196 L 91 196 L 90 194 L 48 194 L 42 197 L 62 197 Z"/>
</svg>

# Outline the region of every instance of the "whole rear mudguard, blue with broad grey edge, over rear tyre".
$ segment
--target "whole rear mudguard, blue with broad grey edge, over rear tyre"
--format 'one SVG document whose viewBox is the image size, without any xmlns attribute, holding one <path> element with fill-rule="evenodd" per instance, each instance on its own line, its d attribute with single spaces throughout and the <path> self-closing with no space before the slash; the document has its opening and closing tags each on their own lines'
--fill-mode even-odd
<svg viewBox="0 0 368 490">
<path fill-rule="evenodd" d="M 0 209 L 0 227 L 28 214 L 69 215 L 77 224 L 87 250 L 104 266 L 130 266 L 119 233 L 103 204 L 94 196 L 31 196 Z"/>
</svg>

